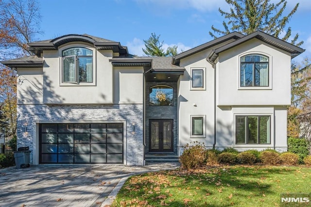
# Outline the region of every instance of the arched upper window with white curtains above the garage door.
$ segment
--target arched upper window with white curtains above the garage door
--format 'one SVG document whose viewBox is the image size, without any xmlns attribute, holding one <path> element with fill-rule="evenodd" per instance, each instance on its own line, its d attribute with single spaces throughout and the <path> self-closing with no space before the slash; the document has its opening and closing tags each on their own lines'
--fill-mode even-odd
<svg viewBox="0 0 311 207">
<path fill-rule="evenodd" d="M 62 57 L 63 82 L 93 82 L 93 51 L 86 48 L 69 48 L 62 52 Z"/>
</svg>

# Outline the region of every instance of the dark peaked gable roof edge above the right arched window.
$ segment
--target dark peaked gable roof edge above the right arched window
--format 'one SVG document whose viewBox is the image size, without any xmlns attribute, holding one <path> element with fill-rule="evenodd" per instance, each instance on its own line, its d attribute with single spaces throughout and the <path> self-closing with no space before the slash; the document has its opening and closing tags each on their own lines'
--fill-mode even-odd
<svg viewBox="0 0 311 207">
<path fill-rule="evenodd" d="M 237 39 L 231 43 L 228 43 L 220 48 L 217 48 L 215 50 L 213 50 L 209 55 L 208 55 L 208 59 L 209 61 L 212 61 L 212 62 L 215 62 L 215 60 L 217 59 L 218 57 L 218 54 L 220 52 L 224 52 L 226 50 L 229 50 L 237 45 L 240 45 L 250 39 L 253 39 L 253 38 L 257 38 L 259 40 L 261 40 L 262 42 L 265 42 L 269 45 L 272 45 L 278 49 L 281 49 L 285 52 L 289 52 L 291 53 L 291 58 L 294 58 L 295 56 L 301 54 L 302 52 L 305 52 L 304 49 L 302 48 L 299 48 L 295 45 L 292 45 L 288 42 L 285 42 L 279 38 L 276 38 L 275 36 L 272 36 L 272 35 L 268 35 L 262 31 L 256 31 L 250 35 L 246 35 L 246 36 L 243 36 L 242 38 L 240 39 Z"/>
</svg>

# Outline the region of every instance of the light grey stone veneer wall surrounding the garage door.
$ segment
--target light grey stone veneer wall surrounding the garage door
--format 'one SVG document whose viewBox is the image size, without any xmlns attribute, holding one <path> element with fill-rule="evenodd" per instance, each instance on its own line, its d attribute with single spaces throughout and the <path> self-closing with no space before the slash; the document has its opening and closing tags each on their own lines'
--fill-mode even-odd
<svg viewBox="0 0 311 207">
<path fill-rule="evenodd" d="M 17 148 L 29 146 L 33 153 L 38 153 L 39 146 L 34 149 L 36 126 L 40 121 L 126 121 L 126 163 L 127 165 L 143 165 L 143 105 L 17 105 Z M 27 123 L 27 132 L 25 132 Z M 135 132 L 132 132 L 132 125 Z M 125 153 L 125 152 L 124 152 Z"/>
</svg>

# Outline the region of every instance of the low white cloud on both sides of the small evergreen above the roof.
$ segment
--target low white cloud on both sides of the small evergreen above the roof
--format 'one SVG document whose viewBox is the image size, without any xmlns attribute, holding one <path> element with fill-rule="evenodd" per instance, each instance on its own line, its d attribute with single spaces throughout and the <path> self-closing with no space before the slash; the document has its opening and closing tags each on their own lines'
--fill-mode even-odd
<svg viewBox="0 0 311 207">
<path fill-rule="evenodd" d="M 164 51 L 168 49 L 168 47 L 173 47 L 174 45 L 177 45 L 177 52 L 185 52 L 191 49 L 191 47 L 184 45 L 183 43 L 177 43 L 177 44 L 166 44 L 164 43 L 162 48 Z M 145 48 L 144 41 L 138 38 L 134 38 L 131 42 L 126 43 L 128 52 L 134 55 L 138 56 L 146 56 L 144 52 L 142 52 L 142 48 Z"/>
</svg>

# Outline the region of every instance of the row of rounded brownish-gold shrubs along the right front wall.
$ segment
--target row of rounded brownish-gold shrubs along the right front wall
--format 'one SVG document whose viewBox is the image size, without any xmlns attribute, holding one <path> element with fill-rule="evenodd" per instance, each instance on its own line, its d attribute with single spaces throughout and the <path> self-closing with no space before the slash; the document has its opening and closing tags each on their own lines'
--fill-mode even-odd
<svg viewBox="0 0 311 207">
<path fill-rule="evenodd" d="M 300 156 L 292 152 L 280 154 L 276 150 L 267 149 L 261 152 L 247 150 L 239 153 L 234 148 L 225 148 L 223 151 L 207 150 L 204 144 L 199 142 L 194 142 L 194 145 L 187 144 L 179 159 L 181 167 L 186 169 L 215 164 L 297 165 L 301 163 L 299 162 Z M 302 161 L 311 166 L 311 155 L 305 156 Z"/>
</svg>

